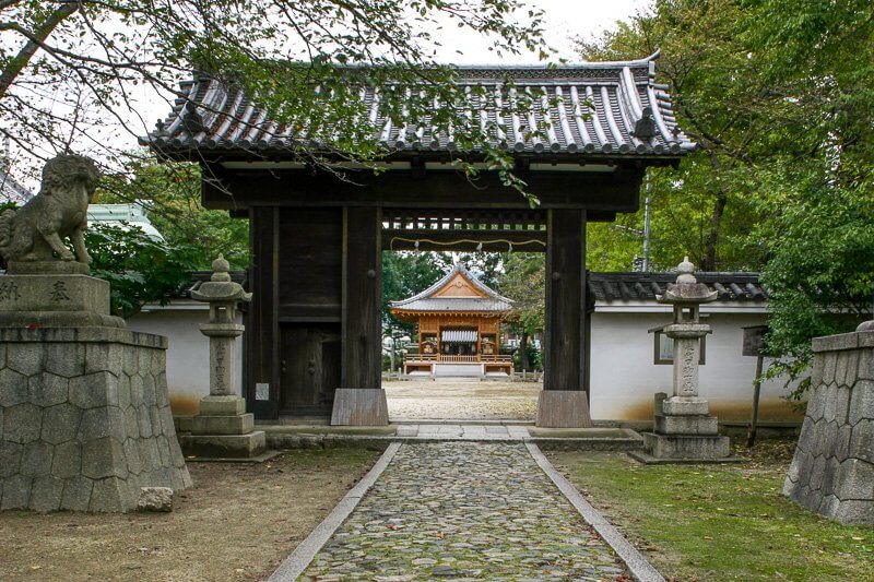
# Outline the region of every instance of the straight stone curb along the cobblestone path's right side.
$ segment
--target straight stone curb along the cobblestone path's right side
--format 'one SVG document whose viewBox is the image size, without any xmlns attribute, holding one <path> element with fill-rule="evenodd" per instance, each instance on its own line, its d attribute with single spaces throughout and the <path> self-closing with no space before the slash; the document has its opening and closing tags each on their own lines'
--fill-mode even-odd
<svg viewBox="0 0 874 582">
<path fill-rule="evenodd" d="M 606 542 L 613 551 L 628 568 L 628 573 L 638 582 L 664 582 L 664 578 L 651 563 L 622 535 L 586 498 L 550 463 L 536 444 L 525 442 L 525 448 L 534 461 L 552 479 L 558 490 L 564 494 L 570 504 L 582 515 L 595 532 Z"/>
</svg>

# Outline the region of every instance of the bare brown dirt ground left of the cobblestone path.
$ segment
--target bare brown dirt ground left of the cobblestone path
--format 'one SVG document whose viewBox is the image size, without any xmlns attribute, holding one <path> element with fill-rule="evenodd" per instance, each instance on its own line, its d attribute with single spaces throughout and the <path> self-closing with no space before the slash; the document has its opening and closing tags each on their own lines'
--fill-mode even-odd
<svg viewBox="0 0 874 582">
<path fill-rule="evenodd" d="M 379 451 L 288 451 L 264 464 L 189 463 L 172 513 L 0 513 L 0 580 L 263 580 Z"/>
</svg>

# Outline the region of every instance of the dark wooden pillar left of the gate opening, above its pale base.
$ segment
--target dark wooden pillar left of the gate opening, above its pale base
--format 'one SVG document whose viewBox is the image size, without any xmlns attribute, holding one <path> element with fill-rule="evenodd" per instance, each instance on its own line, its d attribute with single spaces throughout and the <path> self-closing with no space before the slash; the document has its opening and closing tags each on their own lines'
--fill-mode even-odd
<svg viewBox="0 0 874 582">
<path fill-rule="evenodd" d="M 381 385 L 381 231 L 379 209 L 343 209 L 341 388 Z"/>
</svg>

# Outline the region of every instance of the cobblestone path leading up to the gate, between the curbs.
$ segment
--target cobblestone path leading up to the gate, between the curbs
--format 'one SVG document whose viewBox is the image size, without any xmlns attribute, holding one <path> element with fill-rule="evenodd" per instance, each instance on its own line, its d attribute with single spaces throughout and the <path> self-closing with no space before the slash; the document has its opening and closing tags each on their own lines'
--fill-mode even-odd
<svg viewBox="0 0 874 582">
<path fill-rule="evenodd" d="M 405 443 L 304 580 L 612 580 L 624 568 L 515 442 Z"/>
</svg>

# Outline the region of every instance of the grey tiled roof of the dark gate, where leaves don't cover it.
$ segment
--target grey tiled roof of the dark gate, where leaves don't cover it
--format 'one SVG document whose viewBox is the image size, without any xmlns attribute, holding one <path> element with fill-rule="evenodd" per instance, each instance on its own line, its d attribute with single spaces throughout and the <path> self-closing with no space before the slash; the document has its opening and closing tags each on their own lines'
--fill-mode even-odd
<svg viewBox="0 0 874 582">
<path fill-rule="evenodd" d="M 675 158 L 696 144 L 677 126 L 668 86 L 656 83 L 657 58 L 658 52 L 640 60 L 560 67 L 459 67 L 457 83 L 465 90 L 482 87 L 487 97 L 468 92 L 469 103 L 452 107 L 466 109 L 470 119 L 491 128 L 495 146 L 532 158 Z M 544 96 L 534 99 L 527 115 L 505 115 L 494 107 L 513 92 L 534 90 Z M 305 128 L 294 130 L 272 121 L 240 90 L 216 79 L 198 76 L 184 83 L 181 93 L 166 120 L 141 140 L 165 155 L 276 157 L 304 141 L 317 150 L 331 149 L 330 143 L 306 140 Z M 363 88 L 362 98 L 378 131 L 374 139 L 387 152 L 413 156 L 457 150 L 452 135 L 434 134 L 427 119 L 423 127 L 413 127 L 388 118 L 380 107 L 379 87 Z"/>
</svg>

